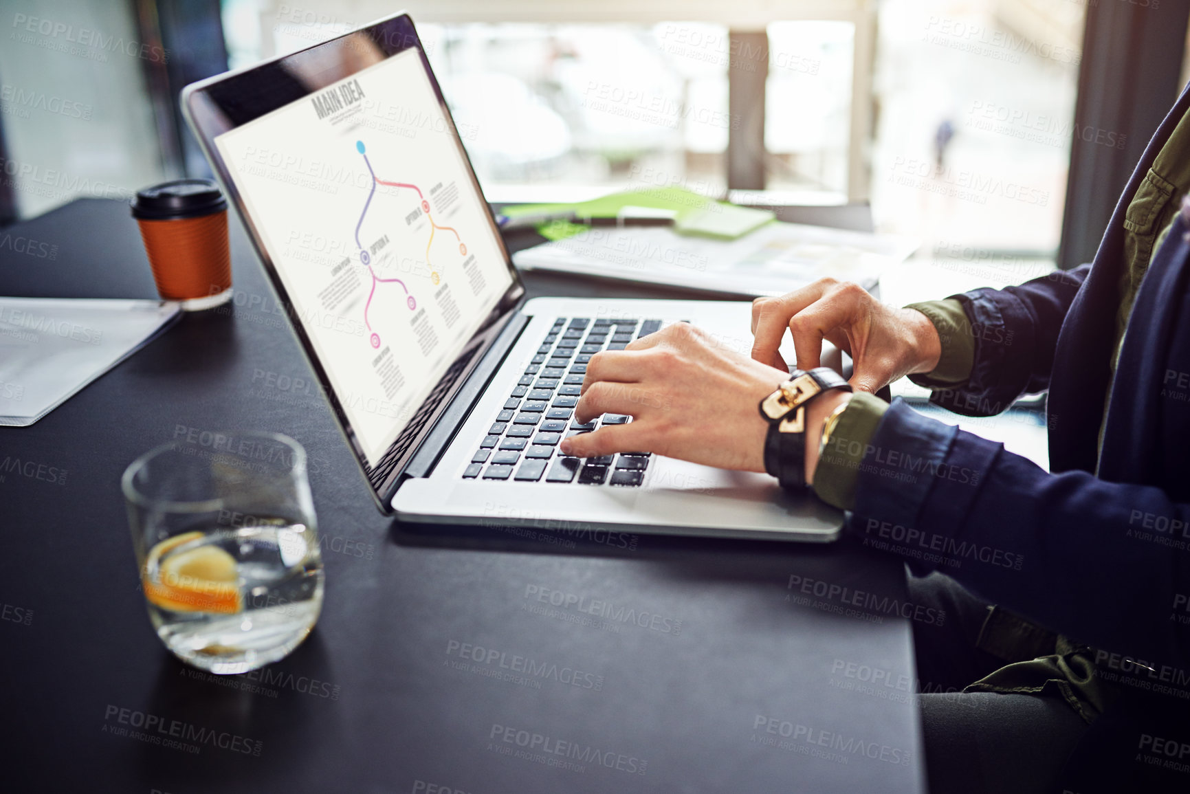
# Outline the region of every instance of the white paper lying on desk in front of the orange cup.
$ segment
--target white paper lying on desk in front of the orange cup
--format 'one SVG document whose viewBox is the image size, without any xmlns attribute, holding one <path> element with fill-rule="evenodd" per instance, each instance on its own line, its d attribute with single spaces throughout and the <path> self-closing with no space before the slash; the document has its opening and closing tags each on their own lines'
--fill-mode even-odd
<svg viewBox="0 0 1190 794">
<path fill-rule="evenodd" d="M 0 426 L 33 424 L 178 312 L 158 300 L 0 298 Z"/>
</svg>

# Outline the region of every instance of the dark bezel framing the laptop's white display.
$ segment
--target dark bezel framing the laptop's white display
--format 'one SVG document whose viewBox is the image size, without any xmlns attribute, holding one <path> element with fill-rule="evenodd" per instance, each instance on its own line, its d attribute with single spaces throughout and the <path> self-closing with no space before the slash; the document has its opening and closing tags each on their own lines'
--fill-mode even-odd
<svg viewBox="0 0 1190 794">
<path fill-rule="evenodd" d="M 376 467 L 369 463 L 368 456 L 364 454 L 363 446 L 359 444 L 355 429 L 351 425 L 351 420 L 343 408 L 331 379 L 322 367 L 298 312 L 294 310 L 293 301 L 289 299 L 276 265 L 263 244 L 259 230 L 245 210 L 244 201 L 231 176 L 231 171 L 224 162 L 218 146 L 214 145 L 215 137 L 225 132 L 253 121 L 294 101 L 307 98 L 325 89 L 327 86 L 340 82 L 352 74 L 357 74 L 363 69 L 375 65 L 375 63 L 382 62 L 350 65 L 350 62 L 344 58 L 347 48 L 359 48 L 362 45 L 375 48 L 374 52 L 382 55 L 383 60 L 408 50 L 416 50 L 443 117 L 447 121 L 455 145 L 463 157 L 466 174 L 471 180 L 471 187 L 481 200 L 483 200 L 493 238 L 501 255 L 505 257 L 505 267 L 512 276 L 508 289 L 496 301 L 496 305 L 488 315 L 484 317 L 472 337 L 463 345 L 459 356 L 447 367 L 446 373 L 450 374 L 459 362 L 465 362 L 463 368 L 456 373 L 453 382 L 439 396 L 437 405 L 428 406 L 430 411 L 416 430 L 415 437 L 412 440 L 405 439 L 405 430 L 411 426 L 406 425 L 406 429 L 402 429 L 397 433 L 397 437 L 389 444 L 386 452 L 377 459 Z M 390 502 L 393 494 L 395 494 L 396 488 L 400 486 L 401 475 L 409 461 L 433 429 L 438 417 L 450 405 L 459 388 L 465 383 L 470 371 L 483 358 L 483 354 L 490 348 L 507 319 L 516 311 L 525 296 L 525 286 L 521 282 L 520 274 L 513 265 L 508 249 L 500 236 L 499 225 L 491 213 L 491 207 L 483 195 L 483 188 L 475 175 L 475 168 L 471 165 L 466 149 L 463 146 L 458 127 L 443 96 L 441 87 L 434 77 L 433 69 L 430 67 L 430 61 L 426 57 L 413 20 L 408 13 L 399 12 L 356 31 L 314 44 L 296 52 L 193 83 L 187 86 L 182 92 L 181 104 L 183 114 L 199 138 L 203 154 L 211 163 L 220 186 L 236 206 L 237 214 L 251 238 L 261 264 L 264 265 L 269 281 L 277 292 L 278 300 L 289 317 L 289 324 L 298 335 L 302 350 L 306 352 L 306 358 L 331 405 L 334 418 L 339 424 L 339 430 L 343 432 L 347 445 L 351 448 L 356 461 L 364 473 L 377 507 L 386 514 L 392 513 Z M 414 418 L 426 411 L 427 404 L 433 399 L 436 390 L 438 389 L 431 389 L 430 398 L 422 405 L 418 406 L 416 411 L 409 414 L 411 424 Z M 406 449 L 393 459 L 394 450 L 402 443 L 402 439 L 406 440 Z"/>
</svg>

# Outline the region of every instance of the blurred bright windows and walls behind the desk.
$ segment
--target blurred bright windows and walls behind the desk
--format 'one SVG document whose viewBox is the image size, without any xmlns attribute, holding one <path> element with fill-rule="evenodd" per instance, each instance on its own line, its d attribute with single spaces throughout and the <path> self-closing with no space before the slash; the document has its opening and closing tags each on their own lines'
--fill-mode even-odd
<svg viewBox="0 0 1190 794">
<path fill-rule="evenodd" d="M 1182 5 L 10 0 L 0 223 L 208 173 L 177 112 L 187 82 L 403 6 L 490 201 L 679 185 L 870 202 L 919 258 L 1008 283 L 1094 252 L 1185 81 Z"/>
</svg>

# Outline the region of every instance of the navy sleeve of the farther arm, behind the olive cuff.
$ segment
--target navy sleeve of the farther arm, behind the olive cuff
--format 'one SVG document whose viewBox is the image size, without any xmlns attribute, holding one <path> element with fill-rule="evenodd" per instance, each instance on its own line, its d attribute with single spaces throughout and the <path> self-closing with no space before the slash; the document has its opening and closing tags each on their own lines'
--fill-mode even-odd
<svg viewBox="0 0 1190 794">
<path fill-rule="evenodd" d="M 966 417 L 990 417 L 1022 394 L 1048 388 L 1058 331 L 1090 269 L 1084 264 L 1016 287 L 952 295 L 971 324 L 975 361 L 965 383 L 935 390 L 931 402 Z"/>
</svg>

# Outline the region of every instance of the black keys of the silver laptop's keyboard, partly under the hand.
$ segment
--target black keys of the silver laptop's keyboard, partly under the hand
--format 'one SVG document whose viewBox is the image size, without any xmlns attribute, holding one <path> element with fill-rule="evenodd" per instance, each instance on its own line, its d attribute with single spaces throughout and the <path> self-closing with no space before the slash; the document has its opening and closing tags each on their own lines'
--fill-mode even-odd
<svg viewBox="0 0 1190 794">
<path fill-rule="evenodd" d="M 649 452 L 580 458 L 562 455 L 563 438 L 600 425 L 622 425 L 632 417 L 607 413 L 578 424 L 575 404 L 587 363 L 601 350 L 624 350 L 633 339 L 659 331 L 660 320 L 558 318 L 537 349 L 516 387 L 480 442 L 464 480 L 578 482 L 585 486 L 639 486 Z"/>
</svg>

